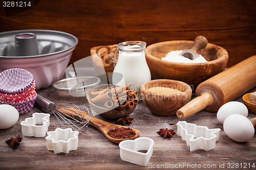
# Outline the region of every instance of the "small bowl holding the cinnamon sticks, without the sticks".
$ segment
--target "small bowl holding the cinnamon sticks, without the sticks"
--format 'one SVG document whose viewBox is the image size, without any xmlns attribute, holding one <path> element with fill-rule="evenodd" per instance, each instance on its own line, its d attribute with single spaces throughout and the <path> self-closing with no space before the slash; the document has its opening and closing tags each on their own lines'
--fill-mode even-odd
<svg viewBox="0 0 256 170">
<path fill-rule="evenodd" d="M 107 88 L 108 86 L 117 87 L 117 85 L 108 85 L 108 84 L 106 84 L 106 85 L 95 86 L 95 87 L 91 88 L 88 91 L 86 97 L 87 97 L 87 100 L 90 104 L 91 109 L 93 111 L 95 111 L 97 114 L 99 114 L 100 116 L 105 117 L 105 118 L 111 118 L 111 119 L 121 118 L 121 117 L 125 117 L 125 116 L 131 114 L 136 109 L 137 104 L 132 108 L 126 108 L 125 107 L 123 109 L 109 110 L 109 109 L 97 106 L 97 105 L 95 105 L 91 102 L 91 99 L 92 99 L 92 96 L 90 95 L 91 92 L 99 91 L 99 89 Z"/>
</svg>

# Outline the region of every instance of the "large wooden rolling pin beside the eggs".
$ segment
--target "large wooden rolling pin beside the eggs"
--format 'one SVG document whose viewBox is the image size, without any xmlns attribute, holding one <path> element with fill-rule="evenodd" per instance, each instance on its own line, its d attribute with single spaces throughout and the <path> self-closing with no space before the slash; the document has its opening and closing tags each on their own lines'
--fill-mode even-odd
<svg viewBox="0 0 256 170">
<path fill-rule="evenodd" d="M 176 115 L 185 118 L 203 109 L 217 112 L 222 105 L 236 100 L 255 86 L 256 56 L 251 56 L 199 84 L 197 98 L 180 108 Z"/>
</svg>

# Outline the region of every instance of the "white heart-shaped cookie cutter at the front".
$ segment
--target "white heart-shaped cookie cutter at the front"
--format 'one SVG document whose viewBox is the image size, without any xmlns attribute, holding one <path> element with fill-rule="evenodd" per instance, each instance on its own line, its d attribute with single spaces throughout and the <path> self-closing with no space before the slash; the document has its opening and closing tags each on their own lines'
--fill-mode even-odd
<svg viewBox="0 0 256 170">
<path fill-rule="evenodd" d="M 148 137 L 139 137 L 135 140 L 123 140 L 119 143 L 122 160 L 146 166 L 153 153 L 154 140 Z M 146 153 L 139 151 L 147 150 Z"/>
</svg>

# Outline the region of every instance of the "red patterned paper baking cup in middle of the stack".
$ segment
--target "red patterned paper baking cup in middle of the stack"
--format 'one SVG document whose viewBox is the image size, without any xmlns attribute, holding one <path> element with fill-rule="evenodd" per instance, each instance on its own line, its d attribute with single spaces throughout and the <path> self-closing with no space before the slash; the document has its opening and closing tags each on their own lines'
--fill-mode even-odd
<svg viewBox="0 0 256 170">
<path fill-rule="evenodd" d="M 23 101 L 26 100 L 33 91 L 35 91 L 35 82 L 33 83 L 32 87 L 30 87 L 27 91 L 21 93 L 9 94 L 0 92 L 0 100 L 7 102 Z"/>
</svg>

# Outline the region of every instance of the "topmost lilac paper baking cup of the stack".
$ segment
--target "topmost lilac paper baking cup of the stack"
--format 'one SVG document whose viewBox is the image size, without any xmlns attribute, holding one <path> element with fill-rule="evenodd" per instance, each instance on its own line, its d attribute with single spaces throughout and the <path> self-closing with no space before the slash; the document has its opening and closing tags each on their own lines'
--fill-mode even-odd
<svg viewBox="0 0 256 170">
<path fill-rule="evenodd" d="M 0 73 L 0 92 L 17 94 L 29 90 L 34 83 L 33 75 L 22 68 L 11 68 Z"/>
</svg>

